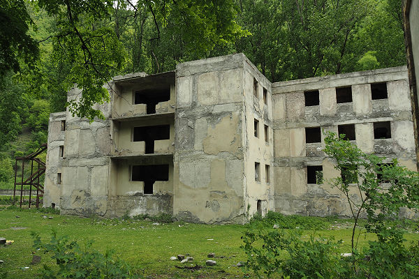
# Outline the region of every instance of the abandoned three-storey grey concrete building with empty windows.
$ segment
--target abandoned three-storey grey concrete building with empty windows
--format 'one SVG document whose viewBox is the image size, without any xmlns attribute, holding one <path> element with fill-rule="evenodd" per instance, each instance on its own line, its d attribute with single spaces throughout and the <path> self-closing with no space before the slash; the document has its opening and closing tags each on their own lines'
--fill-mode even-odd
<svg viewBox="0 0 419 279">
<path fill-rule="evenodd" d="M 406 67 L 271 83 L 244 54 L 115 77 L 105 120 L 50 115 L 44 206 L 244 223 L 348 216 L 322 130 L 416 170 Z M 77 88 L 68 100 L 80 98 Z"/>
</svg>

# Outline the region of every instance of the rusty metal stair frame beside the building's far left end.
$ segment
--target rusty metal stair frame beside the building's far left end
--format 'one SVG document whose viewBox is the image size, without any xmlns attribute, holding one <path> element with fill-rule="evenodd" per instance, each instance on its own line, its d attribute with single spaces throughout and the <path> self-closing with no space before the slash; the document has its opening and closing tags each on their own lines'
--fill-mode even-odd
<svg viewBox="0 0 419 279">
<path fill-rule="evenodd" d="M 36 208 L 39 207 L 39 198 L 43 197 L 44 188 L 41 185 L 39 179 L 40 177 L 45 174 L 45 163 L 41 161 L 39 158 L 36 158 L 39 154 L 43 153 L 43 151 L 47 150 L 47 144 L 42 144 L 41 147 L 34 153 L 29 154 L 28 156 L 24 157 L 16 157 L 15 161 L 15 188 L 13 189 L 13 204 L 15 204 L 15 196 L 16 196 L 16 186 L 20 185 L 20 207 L 22 207 L 22 199 L 23 199 L 23 186 L 29 186 L 29 208 L 31 208 L 31 197 L 32 197 L 32 186 L 36 189 Z M 17 182 L 17 161 L 22 161 L 22 175 L 20 177 L 21 181 Z M 27 179 L 24 179 L 24 163 L 30 162 L 31 164 L 31 174 Z M 35 163 L 35 165 L 34 165 Z M 35 169 L 34 169 L 35 167 Z M 19 191 L 19 190 L 18 190 Z"/>
</svg>

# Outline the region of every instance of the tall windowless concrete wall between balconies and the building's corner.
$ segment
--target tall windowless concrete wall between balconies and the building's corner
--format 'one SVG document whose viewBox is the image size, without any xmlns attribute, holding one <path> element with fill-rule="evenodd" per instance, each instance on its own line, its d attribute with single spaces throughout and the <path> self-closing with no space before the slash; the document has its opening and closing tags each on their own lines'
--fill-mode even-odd
<svg viewBox="0 0 419 279">
<path fill-rule="evenodd" d="M 177 65 L 173 213 L 243 223 L 244 55 Z"/>
</svg>

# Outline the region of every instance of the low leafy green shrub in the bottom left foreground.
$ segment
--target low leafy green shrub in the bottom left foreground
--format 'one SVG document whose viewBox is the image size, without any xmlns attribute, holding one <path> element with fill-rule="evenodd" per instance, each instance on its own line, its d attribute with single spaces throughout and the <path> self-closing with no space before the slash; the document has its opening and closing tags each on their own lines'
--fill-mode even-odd
<svg viewBox="0 0 419 279">
<path fill-rule="evenodd" d="M 112 257 L 110 250 L 102 254 L 91 248 L 93 241 L 80 247 L 77 241 L 69 241 L 67 236 L 57 236 L 54 231 L 49 243 L 43 243 L 34 232 L 31 236 L 34 248 L 49 253 L 57 263 L 57 268 L 44 265 L 42 278 L 139 278 L 133 274 L 131 266 Z"/>
</svg>

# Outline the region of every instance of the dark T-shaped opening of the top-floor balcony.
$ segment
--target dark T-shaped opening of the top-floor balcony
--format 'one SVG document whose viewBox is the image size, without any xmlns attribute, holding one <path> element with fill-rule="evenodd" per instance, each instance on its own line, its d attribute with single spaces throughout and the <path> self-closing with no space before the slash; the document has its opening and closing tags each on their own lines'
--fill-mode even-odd
<svg viewBox="0 0 419 279">
<path fill-rule="evenodd" d="M 147 114 L 156 113 L 156 105 L 170 100 L 170 87 L 163 89 L 145 89 L 136 91 L 134 96 L 134 105 L 145 104 Z"/>
</svg>

